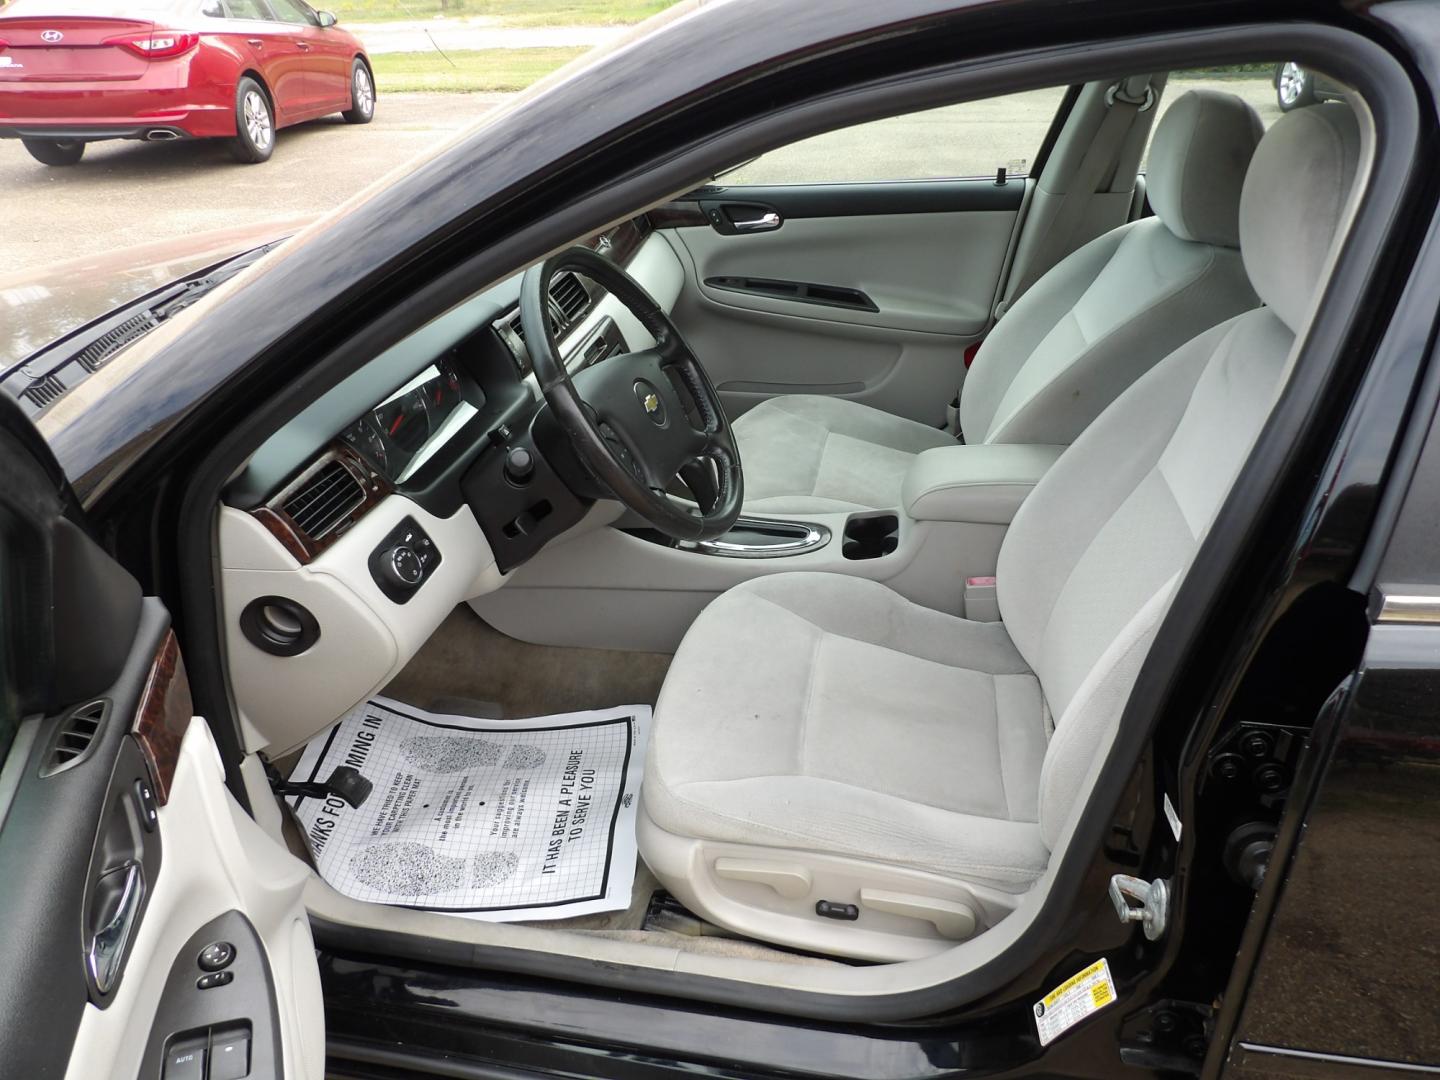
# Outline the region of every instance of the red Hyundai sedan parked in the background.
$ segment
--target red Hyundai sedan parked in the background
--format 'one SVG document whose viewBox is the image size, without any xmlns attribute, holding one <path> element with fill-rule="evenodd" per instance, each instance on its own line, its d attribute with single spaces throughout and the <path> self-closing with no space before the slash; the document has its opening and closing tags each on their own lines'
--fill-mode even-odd
<svg viewBox="0 0 1440 1080">
<path fill-rule="evenodd" d="M 143 0 L 144 3 L 144 0 Z M 264 161 L 275 131 L 374 117 L 360 39 L 302 0 L 0 0 L 0 138 L 73 166 L 105 138 L 225 138 Z"/>
</svg>

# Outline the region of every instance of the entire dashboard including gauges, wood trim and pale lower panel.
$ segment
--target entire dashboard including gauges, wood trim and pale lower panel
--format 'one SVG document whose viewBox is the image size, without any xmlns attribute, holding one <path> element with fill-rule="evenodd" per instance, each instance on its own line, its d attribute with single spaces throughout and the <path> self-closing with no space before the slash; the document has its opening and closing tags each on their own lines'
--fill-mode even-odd
<svg viewBox="0 0 1440 1080">
<path fill-rule="evenodd" d="M 611 236 L 668 311 L 683 282 L 668 240 L 634 222 Z M 517 275 L 377 351 L 226 484 L 226 665 L 249 749 L 284 753 L 383 687 L 458 603 L 603 497 L 541 403 L 518 300 Z M 590 282 L 554 282 L 550 300 L 570 370 L 649 344 Z"/>
</svg>

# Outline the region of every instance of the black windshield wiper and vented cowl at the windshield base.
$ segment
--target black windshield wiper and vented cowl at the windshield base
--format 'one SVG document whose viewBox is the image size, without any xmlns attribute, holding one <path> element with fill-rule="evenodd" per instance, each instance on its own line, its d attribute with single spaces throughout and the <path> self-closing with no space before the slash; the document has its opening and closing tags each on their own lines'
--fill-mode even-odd
<svg viewBox="0 0 1440 1080">
<path fill-rule="evenodd" d="M 35 419 L 121 350 L 233 278 L 284 239 L 251 248 L 115 308 L 52 341 L 0 374 L 0 389 Z"/>
</svg>

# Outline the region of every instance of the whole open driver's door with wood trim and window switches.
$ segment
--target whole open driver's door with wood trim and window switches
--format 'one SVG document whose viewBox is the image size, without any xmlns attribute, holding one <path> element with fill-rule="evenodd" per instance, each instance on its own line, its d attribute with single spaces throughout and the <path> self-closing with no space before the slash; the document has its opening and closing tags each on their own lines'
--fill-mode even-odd
<svg viewBox="0 0 1440 1080">
<path fill-rule="evenodd" d="M 192 711 L 164 606 L 0 397 L 4 1076 L 323 1076 L 308 868 Z"/>
</svg>

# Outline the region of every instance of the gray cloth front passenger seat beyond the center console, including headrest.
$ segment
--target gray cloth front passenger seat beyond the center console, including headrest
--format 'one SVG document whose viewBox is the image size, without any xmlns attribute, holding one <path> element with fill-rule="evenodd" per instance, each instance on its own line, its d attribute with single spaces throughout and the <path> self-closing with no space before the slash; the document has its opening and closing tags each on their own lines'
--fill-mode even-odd
<svg viewBox="0 0 1440 1080">
<path fill-rule="evenodd" d="M 1237 246 L 1240 187 L 1260 134 L 1254 109 L 1233 94 L 1175 101 L 1151 147 L 1155 216 L 1064 258 L 995 325 L 960 392 L 966 442 L 1074 442 L 1172 348 L 1259 304 Z M 914 456 L 955 445 L 937 428 L 821 395 L 765 400 L 734 433 L 744 507 L 770 514 L 899 507 Z"/>
</svg>

